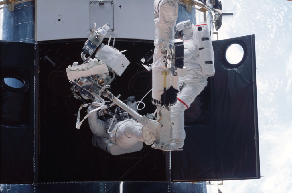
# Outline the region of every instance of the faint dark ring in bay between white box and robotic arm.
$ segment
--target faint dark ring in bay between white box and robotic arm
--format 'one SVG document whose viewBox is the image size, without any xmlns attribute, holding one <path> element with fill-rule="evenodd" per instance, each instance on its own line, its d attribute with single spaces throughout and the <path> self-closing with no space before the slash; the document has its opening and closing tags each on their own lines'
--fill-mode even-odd
<svg viewBox="0 0 292 193">
<path fill-rule="evenodd" d="M 129 92 L 134 96 L 145 95 L 151 89 L 151 77 L 151 72 L 147 70 L 137 72 L 129 81 Z"/>
</svg>

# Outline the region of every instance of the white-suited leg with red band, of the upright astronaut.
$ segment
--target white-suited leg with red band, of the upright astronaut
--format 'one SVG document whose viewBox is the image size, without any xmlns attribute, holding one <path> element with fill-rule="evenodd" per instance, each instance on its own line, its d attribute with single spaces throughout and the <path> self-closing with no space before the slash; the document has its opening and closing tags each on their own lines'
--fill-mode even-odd
<svg viewBox="0 0 292 193">
<path fill-rule="evenodd" d="M 181 89 L 177 98 L 178 101 L 171 107 L 172 142 L 167 149 L 175 150 L 182 148 L 185 140 L 185 109 L 189 108 L 197 95 L 203 91 L 207 85 L 207 76 L 202 75 L 198 69 L 192 69 L 188 74 L 180 79 L 180 83 L 185 81 L 185 86 Z"/>
</svg>

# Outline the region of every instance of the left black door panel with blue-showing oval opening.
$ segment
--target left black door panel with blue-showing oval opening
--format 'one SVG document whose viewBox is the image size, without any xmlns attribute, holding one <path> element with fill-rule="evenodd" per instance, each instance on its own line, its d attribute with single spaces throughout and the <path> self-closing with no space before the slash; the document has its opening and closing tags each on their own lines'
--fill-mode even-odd
<svg viewBox="0 0 292 193">
<path fill-rule="evenodd" d="M 1 183 L 34 179 L 34 44 L 1 45 Z"/>
</svg>

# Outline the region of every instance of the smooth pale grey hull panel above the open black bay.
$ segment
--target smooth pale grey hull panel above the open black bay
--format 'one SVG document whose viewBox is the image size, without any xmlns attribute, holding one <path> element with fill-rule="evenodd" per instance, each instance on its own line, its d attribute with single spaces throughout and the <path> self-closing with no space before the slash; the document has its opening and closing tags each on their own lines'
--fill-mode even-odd
<svg viewBox="0 0 292 193">
<path fill-rule="evenodd" d="M 54 2 L 54 3 L 52 3 Z M 54 10 L 54 11 L 51 11 Z M 131 14 L 129 14 L 131 13 Z M 153 2 L 46 1 L 36 3 L 36 41 L 88 38 L 90 30 L 111 25 L 108 36 L 154 40 Z"/>
</svg>

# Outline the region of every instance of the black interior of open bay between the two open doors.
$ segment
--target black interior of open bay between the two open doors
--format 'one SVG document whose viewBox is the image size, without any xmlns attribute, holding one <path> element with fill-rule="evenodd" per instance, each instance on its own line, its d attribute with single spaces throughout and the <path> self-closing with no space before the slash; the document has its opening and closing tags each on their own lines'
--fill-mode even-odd
<svg viewBox="0 0 292 193">
<path fill-rule="evenodd" d="M 86 40 L 39 43 L 40 156 L 39 182 L 166 180 L 163 151 L 144 144 L 139 152 L 113 156 L 93 146 L 88 121 L 76 128 L 78 109 L 83 102 L 71 94 L 66 68 L 82 64 L 80 54 Z M 105 40 L 107 44 L 108 40 Z M 131 62 L 122 76 L 111 83 L 110 91 L 121 100 L 135 96 L 139 101 L 151 89 L 151 72 L 140 64 L 141 58 L 154 49 L 152 41 L 116 39 L 115 48 L 127 50 Z M 140 114 L 153 113 L 151 93 L 143 100 L 150 105 Z M 89 103 L 91 101 L 84 101 Z M 141 108 L 142 105 L 139 106 Z M 81 109 L 80 118 L 86 115 Z"/>
</svg>

